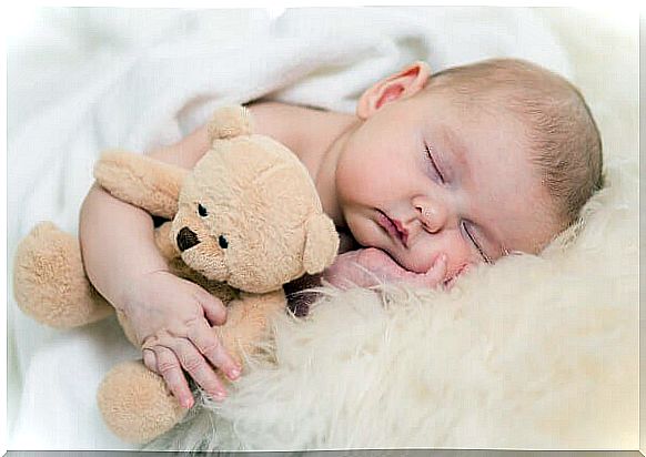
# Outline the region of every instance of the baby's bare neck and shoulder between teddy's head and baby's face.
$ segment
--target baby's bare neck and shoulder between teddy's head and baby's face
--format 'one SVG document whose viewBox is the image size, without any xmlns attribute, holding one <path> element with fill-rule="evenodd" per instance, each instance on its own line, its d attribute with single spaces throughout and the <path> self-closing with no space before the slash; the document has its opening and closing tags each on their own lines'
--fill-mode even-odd
<svg viewBox="0 0 646 457">
<path fill-rule="evenodd" d="M 345 221 L 336 199 L 336 160 L 343 143 L 357 125 L 353 114 L 266 102 L 249 106 L 255 130 L 290 148 L 314 180 L 323 211 L 337 227 Z"/>
</svg>

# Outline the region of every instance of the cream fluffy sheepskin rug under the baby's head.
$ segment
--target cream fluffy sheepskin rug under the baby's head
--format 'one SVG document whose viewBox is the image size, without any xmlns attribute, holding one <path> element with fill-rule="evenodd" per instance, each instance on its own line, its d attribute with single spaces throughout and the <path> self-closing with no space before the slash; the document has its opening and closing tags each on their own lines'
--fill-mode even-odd
<svg viewBox="0 0 646 457">
<path fill-rule="evenodd" d="M 448 293 L 325 290 L 307 318 L 275 321 L 224 404 L 153 446 L 634 447 L 633 165 L 609 169 L 585 224 L 539 257 L 478 267 Z"/>
</svg>

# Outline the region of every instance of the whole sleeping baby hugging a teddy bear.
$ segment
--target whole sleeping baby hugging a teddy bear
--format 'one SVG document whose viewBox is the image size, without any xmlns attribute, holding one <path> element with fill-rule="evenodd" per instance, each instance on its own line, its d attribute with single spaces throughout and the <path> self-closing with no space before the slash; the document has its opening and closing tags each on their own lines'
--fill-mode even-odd
<svg viewBox="0 0 646 457">
<path fill-rule="evenodd" d="M 581 93 L 533 63 L 495 59 L 431 74 L 423 62 L 370 87 L 355 114 L 275 102 L 249 105 L 255 131 L 310 171 L 342 237 L 333 285 L 450 286 L 467 268 L 538 253 L 603 185 L 602 143 Z M 192 167 L 202 126 L 151 152 Z M 132 323 L 143 359 L 190 408 L 184 370 L 214 399 L 241 367 L 210 332 L 223 304 L 173 276 L 153 221 L 94 185 L 81 211 L 88 276 Z M 300 282 L 293 288 L 311 281 Z"/>
</svg>

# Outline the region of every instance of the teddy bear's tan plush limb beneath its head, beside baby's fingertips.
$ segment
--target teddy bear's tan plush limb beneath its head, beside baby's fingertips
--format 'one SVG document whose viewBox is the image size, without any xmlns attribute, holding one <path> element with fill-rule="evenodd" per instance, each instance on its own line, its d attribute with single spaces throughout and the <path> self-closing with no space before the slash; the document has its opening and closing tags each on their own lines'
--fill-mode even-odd
<svg viewBox="0 0 646 457">
<path fill-rule="evenodd" d="M 284 311 L 285 304 L 282 288 L 268 294 L 242 294 L 240 299 L 229 304 L 226 323 L 214 328 L 220 332 L 224 347 L 240 363 L 269 331 L 270 317 Z"/>
</svg>

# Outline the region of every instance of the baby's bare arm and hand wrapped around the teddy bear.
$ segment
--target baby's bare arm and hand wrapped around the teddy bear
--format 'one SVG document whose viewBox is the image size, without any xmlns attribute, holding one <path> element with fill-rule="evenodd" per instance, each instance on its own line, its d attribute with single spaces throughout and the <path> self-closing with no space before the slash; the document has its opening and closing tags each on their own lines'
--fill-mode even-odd
<svg viewBox="0 0 646 457">
<path fill-rule="evenodd" d="M 150 155 L 191 169 L 208 148 L 203 126 Z M 225 307 L 200 286 L 168 272 L 154 244 L 152 217 L 95 184 L 81 209 L 79 236 L 88 277 L 129 317 L 145 365 L 163 376 L 186 407 L 193 398 L 182 368 L 208 393 L 223 397 L 224 388 L 206 360 L 231 379 L 240 373 L 210 331 L 211 324 L 224 323 Z"/>
</svg>

